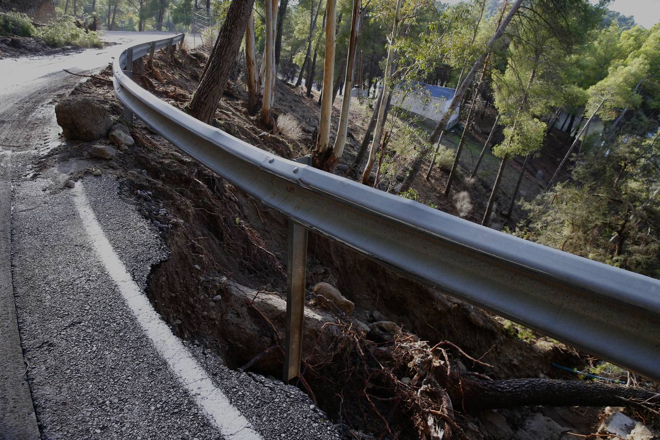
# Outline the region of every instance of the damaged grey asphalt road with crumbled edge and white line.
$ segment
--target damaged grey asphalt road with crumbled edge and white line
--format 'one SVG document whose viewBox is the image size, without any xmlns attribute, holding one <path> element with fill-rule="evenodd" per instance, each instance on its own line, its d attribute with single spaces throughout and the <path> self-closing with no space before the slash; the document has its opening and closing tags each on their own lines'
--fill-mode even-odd
<svg viewBox="0 0 660 440">
<path fill-rule="evenodd" d="M 0 439 L 335 439 L 298 389 L 179 340 L 144 294 L 167 257 L 113 177 L 64 185 L 55 100 L 123 46 L 0 60 Z M 6 398 L 5 398 L 6 397 Z"/>
</svg>

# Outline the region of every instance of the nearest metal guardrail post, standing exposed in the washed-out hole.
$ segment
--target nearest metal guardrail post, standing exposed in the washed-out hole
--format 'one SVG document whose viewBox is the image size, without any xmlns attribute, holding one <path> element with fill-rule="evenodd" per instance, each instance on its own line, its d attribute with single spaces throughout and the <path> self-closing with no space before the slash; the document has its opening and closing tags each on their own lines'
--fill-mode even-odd
<svg viewBox="0 0 660 440">
<path fill-rule="evenodd" d="M 286 263 L 285 383 L 288 383 L 291 379 L 294 379 L 294 377 L 300 376 L 306 259 L 307 228 L 295 220 L 289 219 Z"/>
</svg>

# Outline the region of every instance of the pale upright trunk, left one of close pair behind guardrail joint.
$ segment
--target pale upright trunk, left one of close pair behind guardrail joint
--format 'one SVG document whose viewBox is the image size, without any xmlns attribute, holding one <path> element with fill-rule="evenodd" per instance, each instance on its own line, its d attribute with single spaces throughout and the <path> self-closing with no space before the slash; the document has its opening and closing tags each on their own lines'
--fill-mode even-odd
<svg viewBox="0 0 660 440">
<path fill-rule="evenodd" d="M 332 117 L 332 88 L 335 75 L 335 24 L 337 24 L 337 3 L 327 0 L 325 3 L 325 62 L 323 63 L 323 95 L 321 96 L 321 115 L 319 117 L 318 136 L 314 153 L 314 166 L 320 168 L 321 158 L 330 148 L 330 128 Z"/>
</svg>

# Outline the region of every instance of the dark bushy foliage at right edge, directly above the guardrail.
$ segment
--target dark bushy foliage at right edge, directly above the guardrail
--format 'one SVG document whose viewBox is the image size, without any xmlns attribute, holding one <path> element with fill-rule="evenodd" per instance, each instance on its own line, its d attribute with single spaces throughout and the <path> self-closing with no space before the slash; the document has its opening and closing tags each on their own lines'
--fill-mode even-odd
<svg viewBox="0 0 660 440">
<path fill-rule="evenodd" d="M 573 172 L 523 204 L 516 235 L 601 263 L 660 278 L 660 130 L 591 148 Z"/>
</svg>

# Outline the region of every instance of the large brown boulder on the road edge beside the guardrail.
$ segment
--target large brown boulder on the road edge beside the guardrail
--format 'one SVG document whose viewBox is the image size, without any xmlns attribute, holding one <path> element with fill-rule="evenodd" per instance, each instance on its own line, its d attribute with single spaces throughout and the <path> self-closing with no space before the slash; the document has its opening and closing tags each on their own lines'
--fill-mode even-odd
<svg viewBox="0 0 660 440">
<path fill-rule="evenodd" d="M 67 139 L 94 141 L 105 137 L 112 119 L 104 106 L 92 98 L 71 97 L 55 106 L 57 123 Z"/>
</svg>

